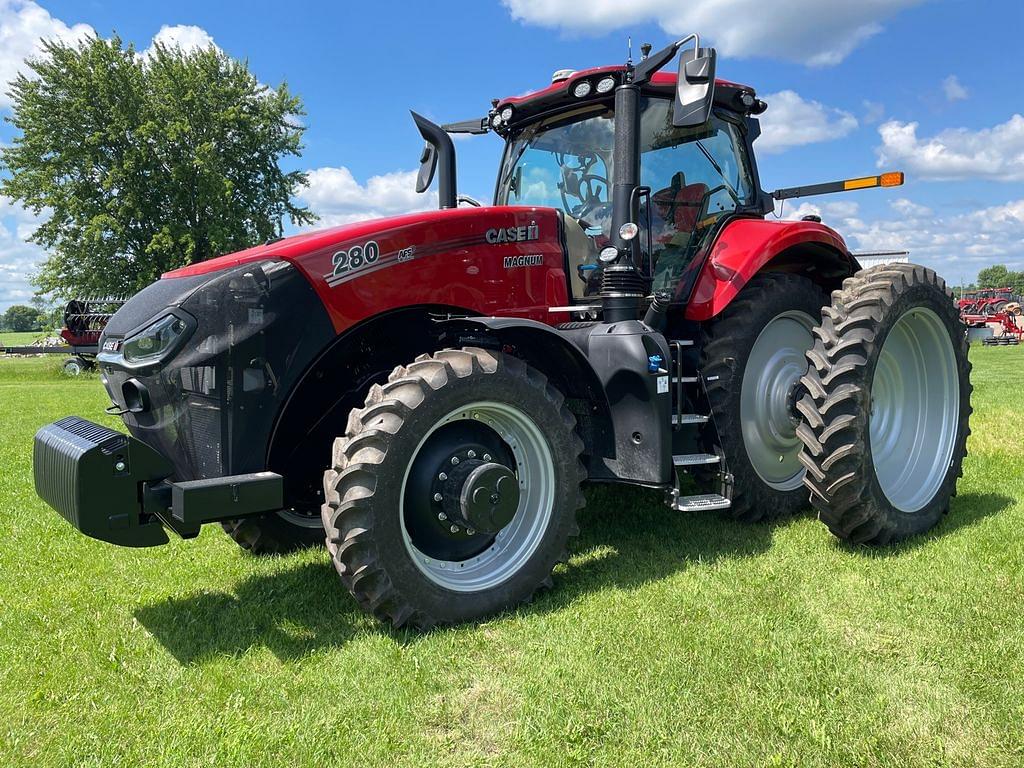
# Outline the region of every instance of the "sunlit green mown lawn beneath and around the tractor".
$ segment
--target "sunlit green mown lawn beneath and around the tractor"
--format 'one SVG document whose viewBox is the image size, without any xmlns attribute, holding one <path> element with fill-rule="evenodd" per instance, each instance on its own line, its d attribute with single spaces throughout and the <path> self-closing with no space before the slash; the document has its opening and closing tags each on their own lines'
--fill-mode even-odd
<svg viewBox="0 0 1024 768">
<path fill-rule="evenodd" d="M 1020 766 L 1024 350 L 975 349 L 952 513 L 870 551 L 589 494 L 534 605 L 392 632 L 323 551 L 153 550 L 34 495 L 35 429 L 115 424 L 94 377 L 0 359 L 0 765 Z"/>
</svg>

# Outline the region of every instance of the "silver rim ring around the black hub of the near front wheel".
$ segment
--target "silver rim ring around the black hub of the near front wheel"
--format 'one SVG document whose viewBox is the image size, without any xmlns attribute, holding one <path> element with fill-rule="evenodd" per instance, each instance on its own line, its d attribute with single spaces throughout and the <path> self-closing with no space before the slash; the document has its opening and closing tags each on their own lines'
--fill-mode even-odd
<svg viewBox="0 0 1024 768">
<path fill-rule="evenodd" d="M 416 566 L 434 584 L 454 592 L 481 592 L 508 581 L 529 560 L 544 540 L 555 499 L 555 465 L 551 449 L 537 424 L 526 414 L 504 402 L 473 402 L 453 411 L 423 436 L 406 469 L 400 499 L 406 498 L 410 470 L 420 449 L 437 429 L 460 420 L 486 424 L 515 457 L 519 478 L 519 506 L 512 521 L 502 528 L 489 548 L 467 560 L 437 560 L 420 552 L 406 527 L 404 502 L 399 503 L 406 550 Z"/>
</svg>

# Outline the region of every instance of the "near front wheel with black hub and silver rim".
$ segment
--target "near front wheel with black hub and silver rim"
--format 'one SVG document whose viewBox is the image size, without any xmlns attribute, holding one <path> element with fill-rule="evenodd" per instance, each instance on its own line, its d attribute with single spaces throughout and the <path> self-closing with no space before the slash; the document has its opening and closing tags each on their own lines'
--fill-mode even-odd
<svg viewBox="0 0 1024 768">
<path fill-rule="evenodd" d="M 562 394 L 516 357 L 466 347 L 395 369 L 350 414 L 324 477 L 342 583 L 394 627 L 529 600 L 578 532 L 582 452 Z"/>
</svg>

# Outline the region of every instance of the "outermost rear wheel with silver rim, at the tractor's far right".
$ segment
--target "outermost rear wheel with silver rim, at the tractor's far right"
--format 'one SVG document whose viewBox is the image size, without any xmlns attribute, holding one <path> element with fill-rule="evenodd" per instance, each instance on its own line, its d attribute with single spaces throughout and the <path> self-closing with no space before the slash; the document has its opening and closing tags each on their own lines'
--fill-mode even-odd
<svg viewBox="0 0 1024 768">
<path fill-rule="evenodd" d="M 971 433 L 971 364 L 931 269 L 886 264 L 833 294 L 804 377 L 800 459 L 811 503 L 854 544 L 922 534 L 949 510 Z"/>
</svg>

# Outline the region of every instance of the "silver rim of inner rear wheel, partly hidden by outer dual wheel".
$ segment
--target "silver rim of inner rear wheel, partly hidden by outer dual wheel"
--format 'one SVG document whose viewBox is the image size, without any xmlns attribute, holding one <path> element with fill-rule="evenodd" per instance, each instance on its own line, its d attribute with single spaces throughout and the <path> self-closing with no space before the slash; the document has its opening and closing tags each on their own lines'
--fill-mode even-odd
<svg viewBox="0 0 1024 768">
<path fill-rule="evenodd" d="M 814 325 L 806 312 L 776 315 L 758 334 L 743 371 L 739 394 L 743 447 L 754 471 L 776 490 L 794 490 L 804 481 L 798 422 L 790 400 L 807 373 L 805 353 L 814 343 Z"/>
</svg>

